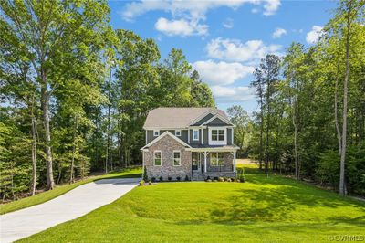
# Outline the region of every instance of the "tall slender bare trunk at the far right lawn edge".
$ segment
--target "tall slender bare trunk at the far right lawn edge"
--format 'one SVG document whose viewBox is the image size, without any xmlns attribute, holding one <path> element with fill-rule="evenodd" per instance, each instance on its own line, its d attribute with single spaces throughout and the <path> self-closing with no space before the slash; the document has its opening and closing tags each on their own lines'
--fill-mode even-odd
<svg viewBox="0 0 365 243">
<path fill-rule="evenodd" d="M 346 194 L 345 185 L 345 160 L 346 160 L 346 139 L 347 139 L 347 125 L 348 125 L 348 82 L 349 82 L 349 32 L 351 26 L 352 2 L 349 1 L 349 10 L 346 16 L 347 33 L 346 33 L 346 70 L 345 80 L 343 82 L 343 112 L 342 112 L 342 144 L 341 144 L 341 160 L 339 169 L 339 195 Z"/>
</svg>

